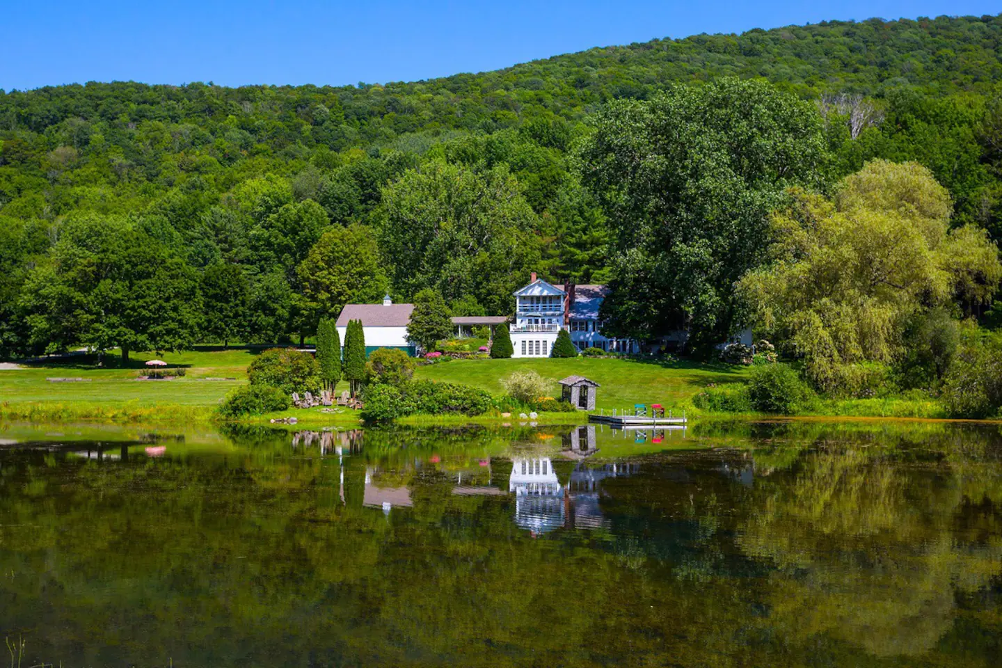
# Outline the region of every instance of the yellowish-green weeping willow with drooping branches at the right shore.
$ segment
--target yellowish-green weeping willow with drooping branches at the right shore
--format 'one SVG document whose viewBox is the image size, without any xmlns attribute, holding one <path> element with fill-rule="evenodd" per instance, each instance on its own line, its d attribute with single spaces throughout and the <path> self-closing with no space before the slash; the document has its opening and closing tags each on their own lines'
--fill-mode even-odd
<svg viewBox="0 0 1002 668">
<path fill-rule="evenodd" d="M 771 261 L 738 292 L 822 390 L 840 389 L 848 366 L 894 363 L 916 313 L 988 303 L 1002 277 L 987 233 L 951 229 L 949 193 L 917 163 L 870 162 L 832 200 L 791 196 L 773 216 Z"/>
</svg>

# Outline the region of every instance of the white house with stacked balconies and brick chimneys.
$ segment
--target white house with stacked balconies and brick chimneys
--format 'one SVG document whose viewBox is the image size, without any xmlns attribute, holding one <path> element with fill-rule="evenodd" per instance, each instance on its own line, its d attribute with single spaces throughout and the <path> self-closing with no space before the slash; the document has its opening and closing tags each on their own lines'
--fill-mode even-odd
<svg viewBox="0 0 1002 668">
<path fill-rule="evenodd" d="M 570 332 L 579 351 L 600 348 L 616 353 L 636 353 L 637 345 L 627 339 L 604 337 L 599 329 L 598 307 L 605 298 L 604 285 L 557 287 L 532 272 L 528 285 L 515 291 L 515 321 L 510 326 L 516 358 L 548 358 L 557 332 Z"/>
</svg>

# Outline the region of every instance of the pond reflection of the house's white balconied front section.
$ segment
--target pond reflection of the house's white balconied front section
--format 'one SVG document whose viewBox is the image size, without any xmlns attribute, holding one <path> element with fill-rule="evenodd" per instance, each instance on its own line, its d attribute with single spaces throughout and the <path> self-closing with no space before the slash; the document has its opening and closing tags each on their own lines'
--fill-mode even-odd
<svg viewBox="0 0 1002 668">
<path fill-rule="evenodd" d="M 508 491 L 519 527 L 542 534 L 564 525 L 563 489 L 548 457 L 513 460 Z"/>
</svg>

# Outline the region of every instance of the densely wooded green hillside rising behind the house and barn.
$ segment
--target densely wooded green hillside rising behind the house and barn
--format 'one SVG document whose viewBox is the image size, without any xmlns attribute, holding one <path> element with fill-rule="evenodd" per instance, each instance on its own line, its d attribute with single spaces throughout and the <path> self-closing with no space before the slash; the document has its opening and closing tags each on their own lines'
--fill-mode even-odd
<svg viewBox="0 0 1002 668">
<path fill-rule="evenodd" d="M 698 85 L 655 95 L 673 82 Z M 643 126 L 625 111 L 634 107 L 687 119 L 702 128 L 692 146 L 719 150 L 744 131 L 738 110 L 769 110 L 786 120 L 756 118 L 753 134 L 773 133 L 791 159 L 817 158 L 789 183 L 777 166 L 779 180 L 819 191 L 874 158 L 919 162 L 949 191 L 951 224 L 999 240 L 1000 94 L 1002 15 L 697 35 L 385 86 L 0 92 L 0 357 L 274 342 L 384 290 L 412 299 L 432 288 L 456 314 L 503 313 L 530 270 L 609 281 L 628 235 L 575 160 L 589 124 L 617 106 L 631 127 Z M 614 125 L 609 136 L 628 129 Z M 804 143 L 788 153 L 798 139 L 782 128 Z M 736 168 L 746 157 L 727 159 Z M 665 159 L 670 187 L 701 178 Z M 688 237 L 710 229 L 705 210 L 692 210 Z M 756 213 L 757 233 L 767 213 Z M 131 296 L 151 285 L 145 301 Z"/>
</svg>

